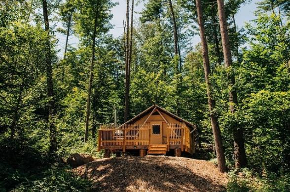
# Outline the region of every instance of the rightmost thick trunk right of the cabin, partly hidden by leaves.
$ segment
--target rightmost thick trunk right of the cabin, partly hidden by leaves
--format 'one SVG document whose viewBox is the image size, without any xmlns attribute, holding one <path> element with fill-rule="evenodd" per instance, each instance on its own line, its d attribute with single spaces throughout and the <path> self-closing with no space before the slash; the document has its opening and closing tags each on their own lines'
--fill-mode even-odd
<svg viewBox="0 0 290 192">
<path fill-rule="evenodd" d="M 222 41 L 223 57 L 225 67 L 229 68 L 232 65 L 232 56 L 229 45 L 229 37 L 227 33 L 227 24 L 224 12 L 223 0 L 217 0 L 218 17 L 219 17 L 219 27 Z M 237 92 L 232 87 L 235 84 L 235 76 L 230 73 L 229 75 L 229 109 L 232 113 L 236 111 L 236 106 L 238 106 Z M 235 155 L 235 167 L 243 167 L 247 165 L 247 158 L 245 152 L 243 129 L 241 127 L 233 127 L 233 137 L 234 137 L 234 155 Z"/>
</svg>

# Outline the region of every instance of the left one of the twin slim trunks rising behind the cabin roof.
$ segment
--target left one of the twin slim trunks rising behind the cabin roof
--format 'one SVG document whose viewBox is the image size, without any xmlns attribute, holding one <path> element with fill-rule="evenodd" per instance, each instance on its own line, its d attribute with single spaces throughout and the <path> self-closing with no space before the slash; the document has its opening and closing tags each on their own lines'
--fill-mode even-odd
<svg viewBox="0 0 290 192">
<path fill-rule="evenodd" d="M 129 90 L 130 90 L 130 77 L 129 77 L 129 0 L 127 0 L 127 14 L 126 14 L 126 72 L 125 72 L 125 110 L 124 110 L 124 122 L 128 120 L 129 114 Z"/>
</svg>

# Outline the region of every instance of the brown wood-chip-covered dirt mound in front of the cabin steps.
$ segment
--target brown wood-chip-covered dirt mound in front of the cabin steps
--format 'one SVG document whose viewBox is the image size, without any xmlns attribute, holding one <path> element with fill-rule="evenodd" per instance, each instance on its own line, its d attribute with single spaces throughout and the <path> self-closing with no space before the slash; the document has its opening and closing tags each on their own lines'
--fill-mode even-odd
<svg viewBox="0 0 290 192">
<path fill-rule="evenodd" d="M 106 158 L 73 172 L 91 179 L 96 192 L 220 192 L 227 184 L 214 164 L 181 157 Z"/>
</svg>

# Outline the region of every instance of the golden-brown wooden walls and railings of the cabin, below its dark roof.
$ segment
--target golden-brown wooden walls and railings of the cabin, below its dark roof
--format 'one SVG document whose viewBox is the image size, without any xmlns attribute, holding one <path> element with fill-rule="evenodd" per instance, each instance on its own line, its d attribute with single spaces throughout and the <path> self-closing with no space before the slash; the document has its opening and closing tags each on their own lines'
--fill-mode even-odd
<svg viewBox="0 0 290 192">
<path fill-rule="evenodd" d="M 152 127 L 154 124 L 160 125 L 160 135 L 153 135 Z M 138 131 L 139 128 L 136 129 L 137 125 L 140 128 L 140 131 Z M 174 128 L 174 126 L 177 127 Z M 177 120 L 165 112 L 158 109 L 156 110 L 155 108 L 154 110 L 147 112 L 144 116 L 141 116 L 139 119 L 137 118 L 134 120 L 133 124 L 123 124 L 119 129 L 124 129 L 124 134 L 121 136 L 122 139 L 120 137 L 119 140 L 115 141 L 111 140 L 113 137 L 112 130 L 106 130 L 104 128 L 99 130 L 98 149 L 126 151 L 127 149 L 148 149 L 149 146 L 153 144 L 166 144 L 168 150 L 179 148 L 181 151 L 186 151 L 190 154 L 195 152 L 194 134 L 190 133 L 192 129 L 190 129 L 184 122 L 181 122 L 181 120 Z M 110 136 L 108 136 L 108 134 Z M 130 136 L 134 134 L 134 138 Z M 179 138 L 177 136 L 174 138 L 174 135 L 177 134 L 179 135 Z M 179 140 L 180 137 L 182 138 L 182 141 Z"/>
</svg>

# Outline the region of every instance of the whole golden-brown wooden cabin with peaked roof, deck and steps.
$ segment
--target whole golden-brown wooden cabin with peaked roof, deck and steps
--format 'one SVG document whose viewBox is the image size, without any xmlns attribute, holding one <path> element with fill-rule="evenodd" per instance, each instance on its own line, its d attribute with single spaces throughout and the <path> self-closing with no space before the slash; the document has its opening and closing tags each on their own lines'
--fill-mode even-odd
<svg viewBox="0 0 290 192">
<path fill-rule="evenodd" d="M 177 115 L 153 105 L 122 125 L 103 125 L 98 133 L 98 151 L 110 152 L 139 150 L 140 156 L 165 155 L 170 150 L 176 156 L 181 152 L 195 152 L 195 125 Z"/>
</svg>

